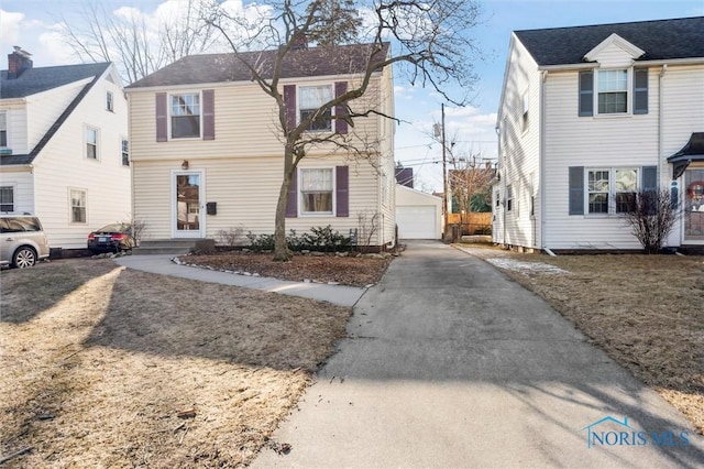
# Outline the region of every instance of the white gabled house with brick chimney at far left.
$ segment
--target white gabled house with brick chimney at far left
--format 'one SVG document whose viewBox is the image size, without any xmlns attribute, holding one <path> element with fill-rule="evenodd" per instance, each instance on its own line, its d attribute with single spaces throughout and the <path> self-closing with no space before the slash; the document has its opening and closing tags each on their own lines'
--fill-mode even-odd
<svg viewBox="0 0 704 469">
<path fill-rule="evenodd" d="M 111 64 L 34 68 L 15 47 L 0 81 L 0 212 L 36 215 L 52 248 L 130 219 L 127 100 Z"/>
</svg>

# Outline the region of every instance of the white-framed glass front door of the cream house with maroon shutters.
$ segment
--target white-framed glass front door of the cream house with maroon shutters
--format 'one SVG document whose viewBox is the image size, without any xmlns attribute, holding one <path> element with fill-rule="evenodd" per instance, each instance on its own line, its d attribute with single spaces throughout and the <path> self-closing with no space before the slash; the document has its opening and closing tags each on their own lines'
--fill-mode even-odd
<svg viewBox="0 0 704 469">
<path fill-rule="evenodd" d="M 174 238 L 202 238 L 202 173 L 174 173 L 173 187 Z"/>
</svg>

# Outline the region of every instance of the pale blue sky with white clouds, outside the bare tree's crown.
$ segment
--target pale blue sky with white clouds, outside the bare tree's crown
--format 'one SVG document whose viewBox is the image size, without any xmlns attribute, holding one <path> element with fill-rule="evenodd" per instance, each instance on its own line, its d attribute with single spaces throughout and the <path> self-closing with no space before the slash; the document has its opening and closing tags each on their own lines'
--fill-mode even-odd
<svg viewBox="0 0 704 469">
<path fill-rule="evenodd" d="M 179 0 L 105 0 L 114 10 L 135 8 L 150 17 Z M 233 1 L 233 0 L 229 0 Z M 0 0 L 0 45 L 2 56 L 13 45 L 33 54 L 35 67 L 77 63 L 70 50 L 56 34 L 62 15 L 70 17 L 84 0 Z M 168 4 L 165 4 L 168 3 Z M 245 4 L 252 3 L 244 1 Z M 266 0 L 258 2 L 266 3 Z M 504 67 L 512 31 L 662 20 L 704 15 L 704 0 L 484 0 L 483 24 L 475 40 L 486 59 L 475 65 L 480 75 L 473 106 L 446 109 L 448 135 L 455 135 L 464 153 L 496 156 L 494 131 Z M 7 61 L 7 59 L 6 59 Z M 7 68 L 7 62 L 1 68 Z M 396 161 L 414 167 L 417 188 L 441 190 L 441 148 L 432 143 L 431 129 L 440 121 L 440 99 L 427 89 L 397 81 L 396 116 L 398 127 Z"/>
</svg>

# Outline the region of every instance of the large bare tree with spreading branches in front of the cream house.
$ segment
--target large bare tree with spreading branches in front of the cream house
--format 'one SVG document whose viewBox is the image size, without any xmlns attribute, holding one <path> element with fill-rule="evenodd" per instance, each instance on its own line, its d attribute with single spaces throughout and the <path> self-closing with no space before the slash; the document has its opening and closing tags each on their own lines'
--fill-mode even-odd
<svg viewBox="0 0 704 469">
<path fill-rule="evenodd" d="M 350 157 L 369 160 L 375 151 L 375 142 L 359 134 L 353 140 L 348 135 L 307 132 L 311 123 L 334 119 L 330 116 L 336 107 L 344 108 L 344 119 L 352 128 L 362 117 L 393 118 L 381 112 L 372 100 L 362 99 L 372 76 L 392 66 L 396 77 L 430 87 L 454 105 L 465 105 L 475 81 L 472 61 L 479 55 L 469 33 L 476 25 L 480 11 L 474 0 L 284 0 L 262 11 L 265 14 L 253 19 L 232 14 L 216 2 L 208 23 L 222 33 L 235 59 L 248 67 L 252 80 L 276 103 L 284 174 L 276 206 L 274 259 L 287 261 L 292 257 L 286 244 L 288 192 L 307 151 L 317 145 L 333 145 Z M 316 41 L 330 61 L 346 59 L 346 72 L 359 78 L 345 92 L 292 122 L 287 119 L 280 79 L 286 61 L 306 40 Z M 364 59 L 349 59 L 342 54 L 342 44 L 360 45 Z M 246 53 L 256 50 L 276 53 Z M 460 96 L 450 91 L 450 85 L 459 85 L 452 89 L 459 89 Z"/>
</svg>

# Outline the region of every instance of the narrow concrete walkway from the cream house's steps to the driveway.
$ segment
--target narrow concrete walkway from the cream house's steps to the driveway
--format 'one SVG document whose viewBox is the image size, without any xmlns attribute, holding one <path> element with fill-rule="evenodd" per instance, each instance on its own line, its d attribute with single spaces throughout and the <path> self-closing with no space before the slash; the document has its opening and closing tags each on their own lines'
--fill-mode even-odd
<svg viewBox="0 0 704 469">
<path fill-rule="evenodd" d="M 366 288 L 345 285 L 328 285 L 322 283 L 288 282 L 262 276 L 248 276 L 218 272 L 209 269 L 191 268 L 172 262 L 172 254 L 125 255 L 114 261 L 130 269 L 198 280 L 200 282 L 221 283 L 224 285 L 244 286 L 283 295 L 302 296 L 306 298 L 330 302 L 341 306 L 353 306 L 362 297 Z"/>
</svg>

